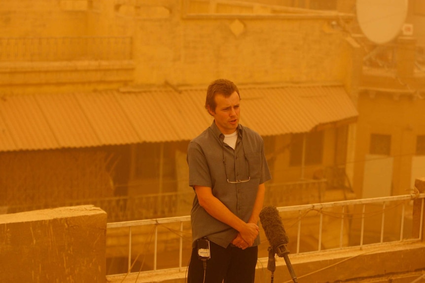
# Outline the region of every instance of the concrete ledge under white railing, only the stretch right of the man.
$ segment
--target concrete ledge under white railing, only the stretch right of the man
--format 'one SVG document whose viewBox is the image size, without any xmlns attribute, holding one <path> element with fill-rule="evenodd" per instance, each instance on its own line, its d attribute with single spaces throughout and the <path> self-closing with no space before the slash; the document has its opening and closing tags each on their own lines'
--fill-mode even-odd
<svg viewBox="0 0 425 283">
<path fill-rule="evenodd" d="M 365 246 L 361 250 L 352 248 L 315 254 L 289 254 L 289 258 L 300 283 L 366 282 L 371 278 L 389 276 L 393 281 L 385 282 L 400 282 L 396 279 L 425 270 L 425 261 L 418 260 L 425 258 L 425 244 L 390 243 Z M 267 262 L 262 264 L 270 279 Z M 260 276 L 259 273 L 257 275 Z M 292 282 L 283 258 L 276 260 L 274 279 L 275 282 Z"/>
</svg>

